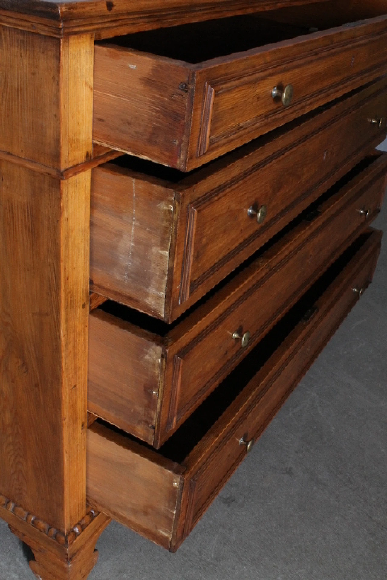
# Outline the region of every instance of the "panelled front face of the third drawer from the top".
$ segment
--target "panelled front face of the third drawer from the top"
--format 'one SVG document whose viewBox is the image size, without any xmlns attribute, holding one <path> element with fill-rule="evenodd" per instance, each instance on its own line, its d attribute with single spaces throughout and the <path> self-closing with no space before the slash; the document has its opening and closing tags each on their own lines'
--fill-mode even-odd
<svg viewBox="0 0 387 580">
<path fill-rule="evenodd" d="M 314 231 L 298 247 L 268 265 L 254 286 L 174 355 L 168 430 L 185 420 L 244 357 L 245 333 L 249 336 L 249 349 L 359 235 L 365 224 L 375 218 L 381 206 L 386 171 L 386 160 L 379 161 L 381 172 L 375 174 L 372 166 L 366 170 L 361 184 L 354 189 L 349 187 L 341 202 L 320 223 L 317 216 Z M 264 263 L 261 267 L 264 268 Z"/>
</svg>

